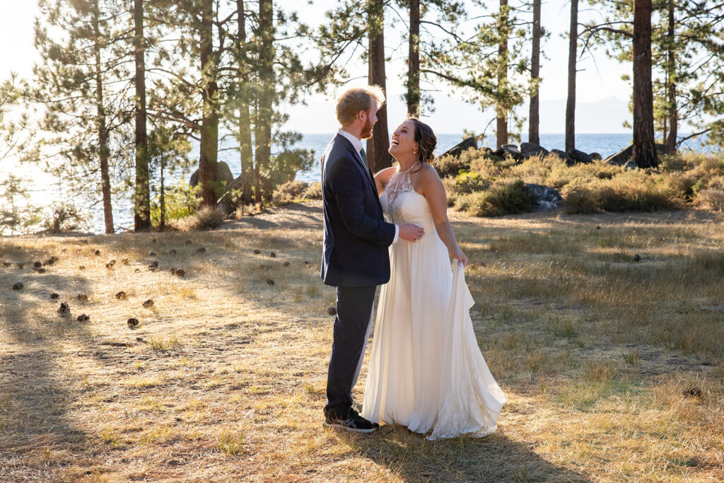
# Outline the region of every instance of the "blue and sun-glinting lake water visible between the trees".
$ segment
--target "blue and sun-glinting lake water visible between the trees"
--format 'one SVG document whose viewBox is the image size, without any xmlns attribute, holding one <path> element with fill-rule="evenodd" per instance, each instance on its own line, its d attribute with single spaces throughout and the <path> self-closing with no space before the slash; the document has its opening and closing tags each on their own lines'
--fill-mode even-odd
<svg viewBox="0 0 724 483">
<path fill-rule="evenodd" d="M 319 157 L 324 152 L 327 143 L 332 138 L 332 134 L 307 134 L 304 135 L 300 143 L 296 146 L 299 148 L 308 148 L 315 151 L 315 156 Z M 542 134 L 541 146 L 547 149 L 563 149 L 565 146 L 565 135 L 563 134 Z M 462 140 L 459 134 L 441 134 L 438 135 L 437 149 L 435 154 L 442 154 L 447 149 L 452 148 L 455 144 Z M 614 154 L 620 151 L 622 148 L 628 146 L 631 143 L 631 135 L 628 134 L 579 134 L 576 135 L 576 148 L 586 153 L 597 152 L 604 158 L 610 154 Z M 495 146 L 495 139 L 493 136 L 489 136 L 484 142 L 479 143 L 479 146 Z M 231 147 L 231 146 L 227 146 Z M 701 143 L 696 140 L 692 140 L 687 143 L 684 148 L 691 148 L 694 151 L 704 151 Z M 198 159 L 198 146 L 196 146 L 190 153 L 190 159 Z M 229 165 L 234 177 L 240 174 L 240 161 L 238 154 L 235 151 L 219 151 L 219 160 L 226 161 Z M 59 200 L 67 197 L 65 193 L 62 193 L 57 187 L 57 180 L 51 179 L 48 175 L 41 172 L 40 169 L 33 169 L 33 167 L 13 167 L 11 165 L 0 164 L 0 176 L 3 173 L 14 172 L 25 177 L 30 177 L 33 180 L 33 188 L 31 188 L 31 194 L 33 203 L 48 204 L 51 201 Z M 167 180 L 168 185 L 180 182 L 182 175 L 177 175 L 177 179 Z M 188 182 L 190 173 L 185 173 L 183 177 Z M 299 172 L 297 180 L 306 182 L 319 181 L 319 164 L 315 163 L 313 169 L 309 171 Z M 114 201 L 114 224 L 116 225 L 117 231 L 120 230 L 132 230 L 133 227 L 133 213 L 132 205 L 129 198 L 116 199 Z M 91 214 L 90 231 L 95 233 L 104 232 L 104 221 L 103 221 L 103 206 L 101 203 L 95 203 L 93 206 L 85 206 Z"/>
</svg>

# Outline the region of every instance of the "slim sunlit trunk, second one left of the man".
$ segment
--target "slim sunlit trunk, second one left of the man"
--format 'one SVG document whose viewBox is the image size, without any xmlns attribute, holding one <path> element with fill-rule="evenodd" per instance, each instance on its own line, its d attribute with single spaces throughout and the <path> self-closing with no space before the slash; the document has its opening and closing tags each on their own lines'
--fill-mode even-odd
<svg viewBox="0 0 724 483">
<path fill-rule="evenodd" d="M 239 63 L 240 82 L 246 77 L 248 63 L 245 54 L 246 43 L 246 14 L 244 12 L 244 0 L 236 1 L 237 8 L 237 62 Z M 244 204 L 251 203 L 251 187 L 253 184 L 253 147 L 251 145 L 251 114 L 249 113 L 249 102 L 246 85 L 242 85 L 239 91 L 239 153 L 241 157 L 241 199 Z"/>
</svg>

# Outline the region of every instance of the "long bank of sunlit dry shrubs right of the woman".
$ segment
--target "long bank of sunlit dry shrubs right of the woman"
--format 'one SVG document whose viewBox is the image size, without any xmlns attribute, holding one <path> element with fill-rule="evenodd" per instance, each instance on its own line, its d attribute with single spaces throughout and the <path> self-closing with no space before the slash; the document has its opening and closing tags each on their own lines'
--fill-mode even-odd
<svg viewBox="0 0 724 483">
<path fill-rule="evenodd" d="M 482 216 L 527 211 L 511 201 L 519 199 L 513 188 L 502 188 L 515 182 L 560 190 L 568 213 L 680 209 L 692 201 L 717 209 L 717 191 L 699 193 L 724 191 L 724 160 L 691 152 L 663 156 L 659 169 L 634 170 L 603 161 L 568 166 L 554 155 L 516 162 L 480 150 L 441 161 L 439 172 L 454 173 L 442 180 L 448 205 Z"/>
</svg>

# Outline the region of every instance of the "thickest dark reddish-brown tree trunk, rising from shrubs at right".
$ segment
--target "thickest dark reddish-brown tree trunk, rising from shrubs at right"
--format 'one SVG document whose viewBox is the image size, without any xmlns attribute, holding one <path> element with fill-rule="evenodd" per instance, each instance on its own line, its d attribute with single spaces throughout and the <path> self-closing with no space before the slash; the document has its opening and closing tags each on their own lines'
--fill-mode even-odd
<svg viewBox="0 0 724 483">
<path fill-rule="evenodd" d="M 633 161 L 656 167 L 651 81 L 651 0 L 633 1 Z"/>
</svg>

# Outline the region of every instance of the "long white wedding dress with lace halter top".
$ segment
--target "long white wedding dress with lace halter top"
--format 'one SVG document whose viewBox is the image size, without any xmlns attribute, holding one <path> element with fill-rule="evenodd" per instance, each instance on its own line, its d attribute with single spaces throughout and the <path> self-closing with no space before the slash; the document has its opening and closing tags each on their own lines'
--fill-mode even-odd
<svg viewBox="0 0 724 483">
<path fill-rule="evenodd" d="M 409 172 L 399 169 L 380 196 L 384 216 L 425 230 L 416 243 L 390 247 L 390 282 L 382 286 L 361 415 L 402 424 L 428 439 L 497 428 L 506 398 L 480 353 L 463 267 L 454 264 L 432 212 Z"/>
</svg>

